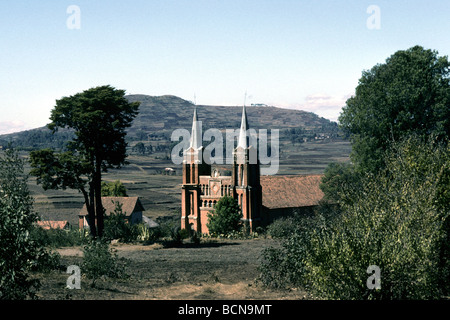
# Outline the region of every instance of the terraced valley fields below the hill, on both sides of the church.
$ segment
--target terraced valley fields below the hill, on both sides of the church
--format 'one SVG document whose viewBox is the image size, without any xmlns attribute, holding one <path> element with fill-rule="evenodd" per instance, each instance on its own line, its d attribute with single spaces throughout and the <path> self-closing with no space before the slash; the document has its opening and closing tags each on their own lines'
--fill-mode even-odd
<svg viewBox="0 0 450 320">
<path fill-rule="evenodd" d="M 349 161 L 351 146 L 347 141 L 307 142 L 302 144 L 282 143 L 278 174 L 323 173 L 330 162 Z M 27 157 L 27 153 L 23 153 Z M 165 154 L 151 156 L 130 155 L 129 164 L 120 170 L 111 170 L 103 175 L 104 181 L 122 181 L 129 196 L 140 197 L 145 215 L 151 218 L 172 217 L 180 214 L 181 165 L 163 160 Z M 166 167 L 176 169 L 175 175 L 164 175 Z M 30 168 L 27 167 L 27 170 Z M 83 206 L 83 197 L 76 190 L 43 190 L 30 177 L 29 188 L 35 198 L 34 208 L 44 220 L 68 220 L 77 225 L 78 212 Z"/>
</svg>

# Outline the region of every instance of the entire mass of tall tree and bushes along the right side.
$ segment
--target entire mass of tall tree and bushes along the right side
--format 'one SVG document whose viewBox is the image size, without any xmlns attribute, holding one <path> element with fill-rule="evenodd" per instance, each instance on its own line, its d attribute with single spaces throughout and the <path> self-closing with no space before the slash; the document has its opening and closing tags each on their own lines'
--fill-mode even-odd
<svg viewBox="0 0 450 320">
<path fill-rule="evenodd" d="M 352 164 L 332 164 L 311 217 L 268 228 L 260 281 L 324 299 L 440 299 L 450 293 L 449 63 L 414 47 L 363 72 L 340 117 Z M 295 227 L 292 226 L 292 224 Z M 380 268 L 380 289 L 367 269 Z"/>
</svg>

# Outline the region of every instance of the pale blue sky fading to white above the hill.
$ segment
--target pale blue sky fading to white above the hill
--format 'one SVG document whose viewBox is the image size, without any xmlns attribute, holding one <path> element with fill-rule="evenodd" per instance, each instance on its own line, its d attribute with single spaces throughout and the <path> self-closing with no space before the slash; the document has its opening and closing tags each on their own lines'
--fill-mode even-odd
<svg viewBox="0 0 450 320">
<path fill-rule="evenodd" d="M 415 45 L 448 56 L 449 17 L 448 0 L 2 0 L 0 134 L 106 84 L 336 121 L 363 70 Z"/>
</svg>

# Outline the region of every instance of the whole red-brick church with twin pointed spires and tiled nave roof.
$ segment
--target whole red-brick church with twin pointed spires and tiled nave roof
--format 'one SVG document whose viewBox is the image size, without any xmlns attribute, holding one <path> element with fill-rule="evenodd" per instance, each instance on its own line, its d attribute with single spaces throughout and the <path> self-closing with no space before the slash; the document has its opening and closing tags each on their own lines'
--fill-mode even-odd
<svg viewBox="0 0 450 320">
<path fill-rule="evenodd" d="M 208 213 L 223 196 L 237 200 L 242 220 L 251 232 L 278 217 L 311 212 L 322 199 L 321 175 L 261 176 L 259 161 L 250 161 L 255 150 L 249 144 L 248 129 L 244 106 L 231 175 L 225 175 L 203 160 L 201 130 L 194 109 L 190 145 L 183 152 L 182 229 L 207 234 Z"/>
</svg>

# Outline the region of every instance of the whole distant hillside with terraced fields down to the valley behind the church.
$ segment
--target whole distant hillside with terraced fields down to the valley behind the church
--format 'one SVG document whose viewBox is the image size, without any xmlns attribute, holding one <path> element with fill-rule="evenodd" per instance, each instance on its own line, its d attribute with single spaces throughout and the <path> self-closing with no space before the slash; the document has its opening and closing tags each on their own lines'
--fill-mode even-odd
<svg viewBox="0 0 450 320">
<path fill-rule="evenodd" d="M 170 159 L 174 129 L 191 130 L 193 104 L 174 96 L 127 96 L 130 101 L 141 101 L 139 114 L 128 129 L 128 165 L 104 173 L 104 181 L 122 181 L 129 196 L 138 196 L 146 209 L 145 215 L 153 219 L 177 217 L 180 212 L 181 165 Z M 240 127 L 242 106 L 198 106 L 203 129 Z M 348 161 L 351 146 L 338 137 L 336 123 L 299 110 L 276 107 L 250 106 L 247 108 L 249 125 L 255 129 L 280 130 L 280 166 L 278 174 L 319 174 L 333 161 Z M 11 142 L 28 157 L 29 150 L 63 148 L 73 132 L 59 130 L 56 134 L 46 128 L 0 136 L 0 145 Z M 138 149 L 140 144 L 144 149 Z M 1 152 L 1 151 L 0 151 Z M 175 169 L 166 175 L 165 168 Z M 27 163 L 26 171 L 30 167 Z M 78 212 L 83 197 L 77 190 L 43 190 L 30 177 L 29 188 L 34 197 L 34 208 L 44 220 L 68 220 L 78 223 Z"/>
</svg>

